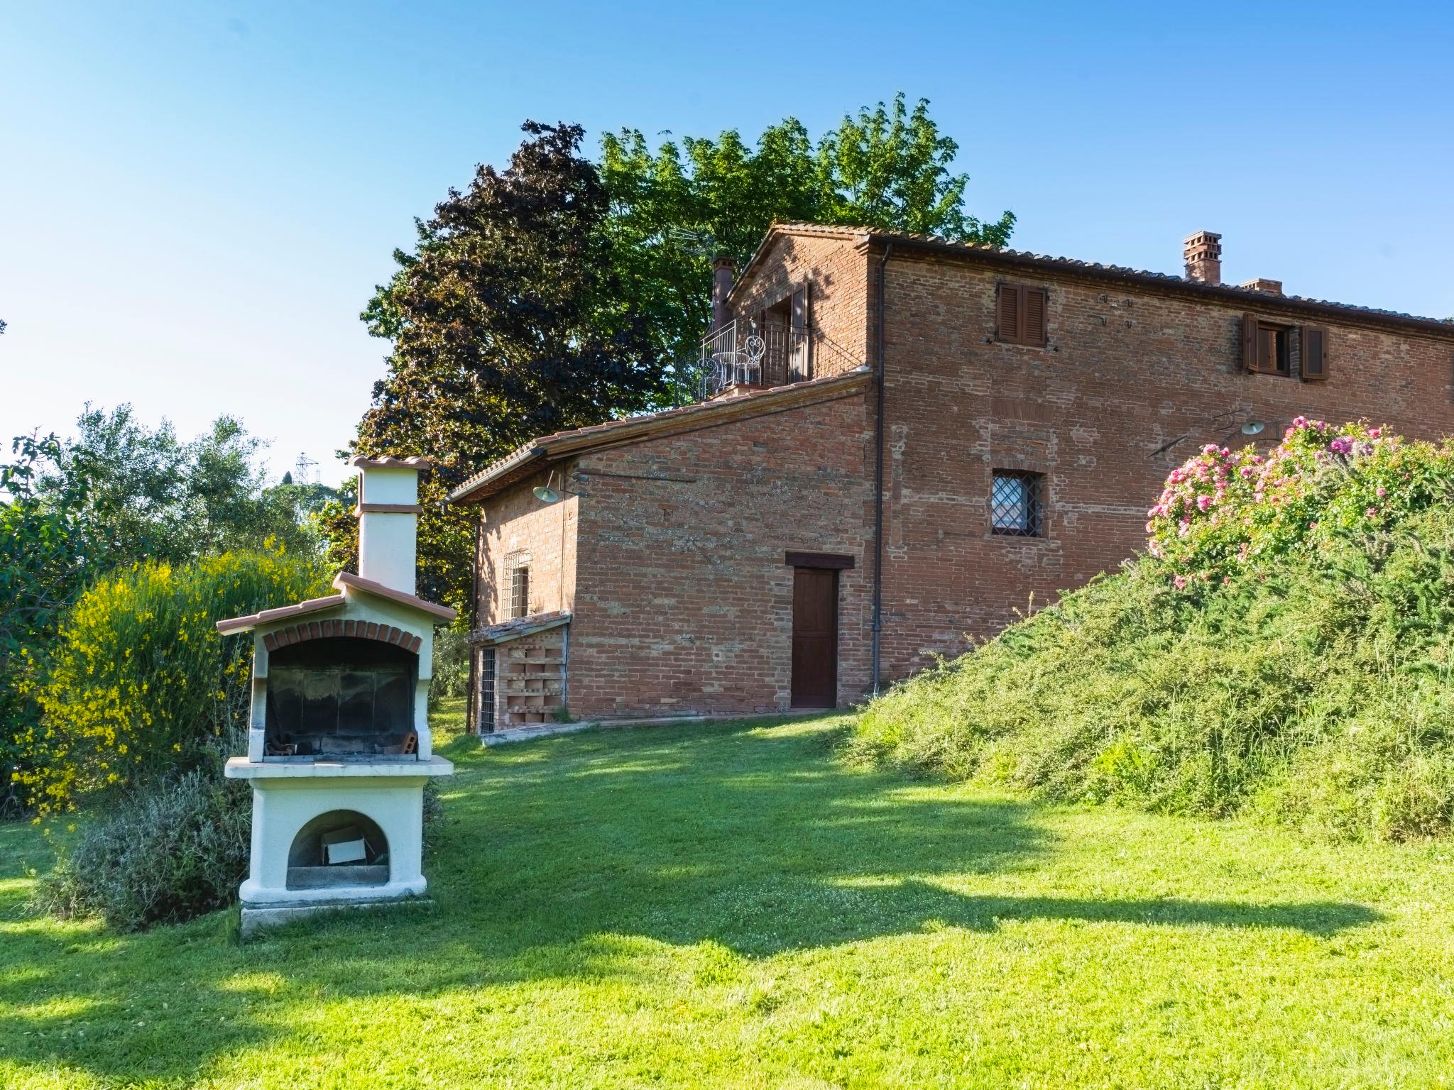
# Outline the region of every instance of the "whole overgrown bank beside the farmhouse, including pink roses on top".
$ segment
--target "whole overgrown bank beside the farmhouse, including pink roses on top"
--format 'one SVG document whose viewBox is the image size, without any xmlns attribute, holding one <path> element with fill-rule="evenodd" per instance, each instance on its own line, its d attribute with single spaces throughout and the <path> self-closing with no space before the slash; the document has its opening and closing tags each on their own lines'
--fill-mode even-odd
<svg viewBox="0 0 1454 1090">
<path fill-rule="evenodd" d="M 1298 419 L 1175 469 L 1147 554 L 894 687 L 853 746 L 1336 837 L 1454 823 L 1454 451 Z"/>
</svg>

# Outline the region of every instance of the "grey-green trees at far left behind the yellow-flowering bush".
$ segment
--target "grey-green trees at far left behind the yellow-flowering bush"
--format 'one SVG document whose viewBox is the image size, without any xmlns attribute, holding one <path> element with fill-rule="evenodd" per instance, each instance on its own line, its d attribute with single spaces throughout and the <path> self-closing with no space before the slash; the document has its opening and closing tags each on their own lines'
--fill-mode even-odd
<svg viewBox="0 0 1454 1090">
<path fill-rule="evenodd" d="M 38 686 L 58 626 L 105 573 L 185 564 L 224 549 L 284 549 L 313 562 L 313 525 L 336 493 L 268 487 L 262 442 L 218 417 L 192 442 L 170 424 L 148 429 L 129 405 L 87 405 L 77 437 L 20 436 L 0 465 L 0 808 L 33 773 L 17 740 L 39 725 Z"/>
</svg>

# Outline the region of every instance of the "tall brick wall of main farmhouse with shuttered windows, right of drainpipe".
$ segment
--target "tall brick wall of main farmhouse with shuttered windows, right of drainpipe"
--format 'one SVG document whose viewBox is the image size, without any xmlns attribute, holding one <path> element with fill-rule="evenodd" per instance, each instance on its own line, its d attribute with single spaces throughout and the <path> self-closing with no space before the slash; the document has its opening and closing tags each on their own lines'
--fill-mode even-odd
<svg viewBox="0 0 1454 1090">
<path fill-rule="evenodd" d="M 887 676 L 1115 568 L 1143 546 L 1166 472 L 1202 443 L 1242 445 L 1249 419 L 1274 443 L 1297 414 L 1454 430 L 1451 340 L 1313 320 L 1329 328 L 1329 381 L 1304 384 L 1242 369 L 1245 311 L 1309 321 L 1272 296 L 1223 304 L 903 250 L 887 276 Z M 993 342 L 1000 280 L 1048 289 L 1044 349 Z M 1047 475 L 1043 539 L 989 532 L 996 468 Z"/>
</svg>

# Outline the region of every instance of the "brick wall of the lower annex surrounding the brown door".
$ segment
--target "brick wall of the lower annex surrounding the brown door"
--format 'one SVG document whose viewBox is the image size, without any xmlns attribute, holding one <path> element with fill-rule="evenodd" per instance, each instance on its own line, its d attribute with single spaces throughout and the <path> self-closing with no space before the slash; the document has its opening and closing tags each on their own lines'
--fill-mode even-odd
<svg viewBox="0 0 1454 1090">
<path fill-rule="evenodd" d="M 839 693 L 856 699 L 868 680 L 869 437 L 856 392 L 583 455 L 571 715 L 787 708 L 790 549 L 855 558 L 839 584 Z"/>
</svg>

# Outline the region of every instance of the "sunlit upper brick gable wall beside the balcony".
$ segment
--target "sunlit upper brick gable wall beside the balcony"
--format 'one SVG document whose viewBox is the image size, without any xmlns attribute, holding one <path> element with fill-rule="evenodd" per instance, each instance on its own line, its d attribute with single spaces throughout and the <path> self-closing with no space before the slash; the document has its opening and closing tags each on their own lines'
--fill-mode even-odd
<svg viewBox="0 0 1454 1090">
<path fill-rule="evenodd" d="M 739 318 L 755 318 L 804 283 L 813 344 L 813 378 L 839 375 L 868 362 L 868 256 L 852 238 L 779 235 L 733 299 Z M 824 340 L 826 339 L 826 343 Z"/>
</svg>

